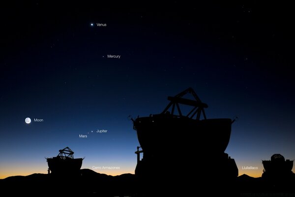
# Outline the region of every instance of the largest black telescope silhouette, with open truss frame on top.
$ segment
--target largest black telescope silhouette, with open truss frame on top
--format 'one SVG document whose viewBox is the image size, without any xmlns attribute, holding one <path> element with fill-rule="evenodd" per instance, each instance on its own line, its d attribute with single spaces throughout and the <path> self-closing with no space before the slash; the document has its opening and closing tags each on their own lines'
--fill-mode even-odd
<svg viewBox="0 0 295 197">
<path fill-rule="evenodd" d="M 193 99 L 184 98 L 189 95 Z M 188 188 L 195 189 L 231 184 L 238 169 L 235 160 L 224 151 L 235 120 L 207 119 L 208 105 L 192 88 L 168 100 L 170 103 L 161 113 L 132 119 L 140 143 L 135 152 L 135 174 L 143 185 L 141 189 L 162 187 L 164 181 L 171 188 L 179 187 L 179 182 L 187 182 Z M 202 184 L 191 185 L 187 176 L 202 179 Z"/>
</svg>

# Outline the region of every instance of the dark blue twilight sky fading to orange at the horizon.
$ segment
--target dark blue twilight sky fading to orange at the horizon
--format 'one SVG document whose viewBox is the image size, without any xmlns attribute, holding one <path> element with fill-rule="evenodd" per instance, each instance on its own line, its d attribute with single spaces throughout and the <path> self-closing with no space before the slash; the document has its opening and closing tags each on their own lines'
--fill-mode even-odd
<svg viewBox="0 0 295 197">
<path fill-rule="evenodd" d="M 34 0 L 0 9 L 0 178 L 47 173 L 44 157 L 66 146 L 85 157 L 82 168 L 134 173 L 128 116 L 160 113 L 188 87 L 207 118 L 238 117 L 226 153 L 239 175 L 261 176 L 275 153 L 295 159 L 291 5 Z"/>
</svg>

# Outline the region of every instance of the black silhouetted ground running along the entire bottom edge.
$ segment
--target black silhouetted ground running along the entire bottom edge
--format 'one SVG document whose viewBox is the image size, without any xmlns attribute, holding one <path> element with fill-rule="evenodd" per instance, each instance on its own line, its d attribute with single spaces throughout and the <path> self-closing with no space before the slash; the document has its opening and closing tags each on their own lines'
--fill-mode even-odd
<svg viewBox="0 0 295 197">
<path fill-rule="evenodd" d="M 171 177 L 172 179 L 173 177 Z M 176 178 L 176 177 L 175 177 Z M 193 179 L 191 179 L 193 180 Z M 196 180 L 196 179 L 194 179 Z M 213 179 L 212 179 L 213 180 Z M 156 181 L 156 179 L 155 179 Z M 218 185 L 210 185 L 211 191 L 207 186 L 190 182 L 190 187 L 185 189 L 181 186 L 184 180 L 177 180 L 178 188 L 171 187 L 175 195 L 182 193 L 192 194 L 192 196 L 223 196 L 225 191 L 228 196 L 240 197 L 295 197 L 295 176 L 285 180 L 266 180 L 261 177 L 253 178 L 248 175 L 237 177 L 233 185 L 220 188 Z M 188 182 L 188 181 L 187 181 Z M 208 183 L 208 180 L 204 181 Z M 147 187 L 153 185 L 153 181 L 147 181 Z M 161 188 L 157 183 L 157 190 Z M 201 184 L 201 185 L 200 185 Z M 156 186 L 155 186 L 156 187 Z M 0 191 L 2 194 L 52 194 L 52 195 L 91 195 L 97 197 L 147 197 L 147 196 L 168 196 L 173 193 L 167 191 L 143 191 L 143 185 L 134 174 L 121 174 L 119 176 L 110 176 L 100 174 L 90 169 L 81 169 L 79 174 L 75 175 L 54 175 L 54 174 L 31 174 L 29 176 L 12 176 L 0 179 Z M 189 190 L 189 191 L 187 191 Z M 223 192 L 219 192 L 222 190 Z M 148 194 L 146 194 L 148 193 Z M 158 195 L 159 194 L 159 195 Z M 160 195 L 161 194 L 161 195 Z M 166 196 L 167 196 L 166 195 Z M 1 195 L 2 196 L 2 195 Z"/>
</svg>

